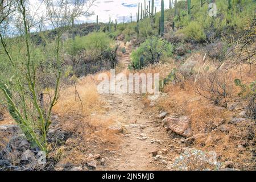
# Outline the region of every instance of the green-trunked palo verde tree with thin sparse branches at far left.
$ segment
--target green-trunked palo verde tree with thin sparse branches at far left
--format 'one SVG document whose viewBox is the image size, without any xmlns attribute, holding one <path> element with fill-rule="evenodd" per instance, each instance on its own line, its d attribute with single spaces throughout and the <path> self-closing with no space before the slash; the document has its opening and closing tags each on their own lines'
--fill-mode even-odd
<svg viewBox="0 0 256 182">
<path fill-rule="evenodd" d="M 0 74 L 0 91 L 10 115 L 26 135 L 31 147 L 47 152 L 47 132 L 52 122 L 52 109 L 60 92 L 63 60 L 61 36 L 71 27 L 72 19 L 86 13 L 84 10 L 88 1 L 58 0 L 53 4 L 53 1 L 45 0 L 43 3 L 47 18 L 43 21 L 42 17 L 34 18 L 32 21 L 31 17 L 36 14 L 30 14 L 32 11 L 28 1 L 0 1 L 0 64 L 3 71 Z M 31 39 L 31 30 L 36 30 L 36 26 L 42 30 L 43 22 L 51 25 L 56 32 L 48 41 L 52 56 L 49 56 L 50 52 L 39 49 L 40 46 Z M 18 31 L 11 36 L 15 26 Z M 47 48 L 48 42 L 44 42 L 42 47 Z M 43 88 L 39 69 L 50 58 L 54 77 L 52 84 Z"/>
</svg>

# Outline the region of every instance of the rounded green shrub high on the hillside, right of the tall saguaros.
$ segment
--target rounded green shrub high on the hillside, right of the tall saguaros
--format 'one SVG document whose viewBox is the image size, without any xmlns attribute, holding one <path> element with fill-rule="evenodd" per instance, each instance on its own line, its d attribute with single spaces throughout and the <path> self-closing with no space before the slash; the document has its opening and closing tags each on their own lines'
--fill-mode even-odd
<svg viewBox="0 0 256 182">
<path fill-rule="evenodd" d="M 195 21 L 189 23 L 187 27 L 184 27 L 183 30 L 181 30 L 181 32 L 183 32 L 187 40 L 196 40 L 196 42 L 201 43 L 206 39 L 203 27 Z"/>
</svg>

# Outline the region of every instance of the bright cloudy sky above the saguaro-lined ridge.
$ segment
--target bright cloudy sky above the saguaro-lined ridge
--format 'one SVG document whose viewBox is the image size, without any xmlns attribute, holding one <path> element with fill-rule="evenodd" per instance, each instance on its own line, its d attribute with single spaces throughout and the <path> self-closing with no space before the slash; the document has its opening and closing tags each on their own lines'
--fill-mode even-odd
<svg viewBox="0 0 256 182">
<path fill-rule="evenodd" d="M 36 7 L 40 6 L 41 12 L 46 12 L 44 6 L 42 5 L 42 0 L 29 0 L 30 5 L 37 10 Z M 58 1 L 58 0 L 53 0 Z M 72 1 L 72 0 L 71 0 Z M 96 22 L 96 15 L 98 15 L 99 22 L 109 22 L 109 17 L 112 20 L 117 19 L 118 23 L 123 22 L 123 16 L 125 16 L 125 22 L 130 22 L 130 14 L 133 16 L 133 21 L 136 20 L 136 14 L 138 12 L 138 3 L 143 3 L 144 9 L 144 0 L 96 0 L 94 5 L 90 8 L 91 12 L 94 12 L 94 15 L 90 17 L 81 16 L 77 18 L 76 23 L 92 23 Z M 155 0 L 156 11 L 160 11 L 161 0 Z M 146 0 L 146 5 L 148 5 L 148 0 Z M 164 0 L 164 7 L 168 9 L 169 0 Z M 38 13 L 38 12 L 37 12 Z M 141 13 L 141 10 L 140 10 Z"/>
</svg>

